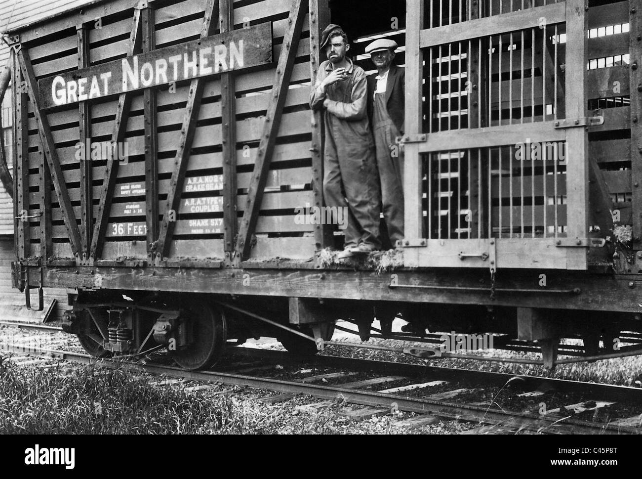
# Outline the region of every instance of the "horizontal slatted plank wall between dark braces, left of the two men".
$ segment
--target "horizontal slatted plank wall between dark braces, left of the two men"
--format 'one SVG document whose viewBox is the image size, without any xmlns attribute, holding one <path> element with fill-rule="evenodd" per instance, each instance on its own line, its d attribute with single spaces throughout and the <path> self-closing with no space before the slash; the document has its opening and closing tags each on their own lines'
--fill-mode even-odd
<svg viewBox="0 0 642 479">
<path fill-rule="evenodd" d="M 157 48 L 197 39 L 203 22 L 204 0 L 155 3 L 155 45 Z M 114 4 L 116 5 L 116 4 Z M 117 4 L 117 5 L 120 5 Z M 152 5 L 152 4 L 150 4 Z M 164 5 L 164 6 L 160 6 Z M 238 5 L 238 6 L 237 6 Z M 234 28 L 243 24 L 273 24 L 273 59 L 279 58 L 282 37 L 288 28 L 291 0 L 234 1 Z M 112 8 L 113 10 L 113 8 Z M 89 62 L 92 65 L 125 57 L 128 48 L 132 8 L 119 10 L 101 19 L 102 28 L 89 28 Z M 304 23 L 297 60 L 293 69 L 279 137 L 265 188 L 257 224 L 257 242 L 252 257 L 310 258 L 314 251 L 313 225 L 297 224 L 295 208 L 313 204 L 311 199 L 311 125 L 309 100 L 309 23 Z M 27 48 L 37 78 L 78 68 L 75 28 L 65 28 L 28 42 Z M 274 65 L 256 71 L 235 74 L 236 79 L 236 158 L 237 206 L 243 213 L 245 197 L 252 176 L 253 161 L 261 134 L 264 115 L 270 101 L 275 74 Z M 173 158 L 187 98 L 187 84 L 157 90 L 159 209 L 162 215 L 169 189 Z M 108 141 L 116 111 L 117 98 L 94 102 L 89 108 L 92 141 Z M 39 138 L 30 105 L 30 168 L 39 158 Z M 80 169 L 75 157 L 79 134 L 78 105 L 55 109 L 47 114 L 53 140 L 64 170 L 74 214 L 80 221 Z M 144 102 L 143 93 L 135 94 L 127 117 L 125 140 L 128 161 L 119 165 L 116 191 L 107 227 L 102 257 L 146 258 L 146 203 L 144 172 Z M 187 166 L 170 258 L 223 258 L 223 181 L 222 181 L 221 87 L 218 77 L 205 82 L 198 113 L 196 134 Z M 92 161 L 94 217 L 98 212 L 100 185 L 105 177 L 105 159 Z M 35 173 L 35 170 L 31 170 Z M 30 174 L 30 211 L 39 209 L 39 181 Z M 62 211 L 55 192 L 51 192 L 53 218 L 53 256 L 72 257 L 62 221 Z M 35 230 L 39 224 L 30 224 Z M 38 235 L 31 235 L 31 255 L 40 254 Z M 287 237 L 281 244 L 278 238 Z M 284 248 L 284 245 L 287 245 Z"/>
</svg>

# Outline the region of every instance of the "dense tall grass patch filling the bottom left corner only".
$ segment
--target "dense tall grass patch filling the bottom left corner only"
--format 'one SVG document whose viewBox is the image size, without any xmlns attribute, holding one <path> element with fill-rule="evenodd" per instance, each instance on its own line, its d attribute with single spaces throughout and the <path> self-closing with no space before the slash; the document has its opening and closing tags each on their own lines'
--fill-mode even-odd
<svg viewBox="0 0 642 479">
<path fill-rule="evenodd" d="M 123 370 L 0 366 L 0 433 L 173 434 L 239 432 L 229 398 L 159 388 Z"/>
</svg>

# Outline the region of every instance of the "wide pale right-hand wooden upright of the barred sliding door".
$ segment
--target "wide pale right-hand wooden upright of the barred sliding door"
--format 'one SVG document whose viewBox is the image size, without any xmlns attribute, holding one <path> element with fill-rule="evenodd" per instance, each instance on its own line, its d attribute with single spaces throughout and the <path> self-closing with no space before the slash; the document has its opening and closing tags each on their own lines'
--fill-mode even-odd
<svg viewBox="0 0 642 479">
<path fill-rule="evenodd" d="M 586 116 L 586 60 L 588 0 L 566 1 L 566 116 Z M 588 234 L 589 142 L 586 128 L 570 128 L 566 134 L 568 149 L 566 190 L 569 238 Z M 587 251 L 568 248 L 568 269 L 586 269 Z"/>
</svg>

